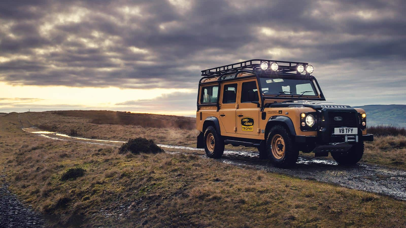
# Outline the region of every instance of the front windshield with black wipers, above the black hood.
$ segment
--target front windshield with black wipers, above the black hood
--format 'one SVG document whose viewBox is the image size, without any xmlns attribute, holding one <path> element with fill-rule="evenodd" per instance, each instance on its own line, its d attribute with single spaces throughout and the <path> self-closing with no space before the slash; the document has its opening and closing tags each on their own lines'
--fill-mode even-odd
<svg viewBox="0 0 406 228">
<path fill-rule="evenodd" d="M 313 80 L 259 78 L 264 95 L 318 96 Z"/>
</svg>

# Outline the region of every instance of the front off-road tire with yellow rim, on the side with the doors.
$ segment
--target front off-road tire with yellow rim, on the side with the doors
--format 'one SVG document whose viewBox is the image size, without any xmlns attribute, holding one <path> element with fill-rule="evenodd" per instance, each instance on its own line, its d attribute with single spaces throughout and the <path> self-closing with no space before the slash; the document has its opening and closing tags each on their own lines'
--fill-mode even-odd
<svg viewBox="0 0 406 228">
<path fill-rule="evenodd" d="M 275 157 L 274 153 L 272 153 L 272 141 L 275 137 L 279 140 L 283 140 L 284 146 L 282 146 L 282 149 L 285 147 L 285 150 L 281 157 Z M 299 149 L 294 144 L 292 136 L 287 129 L 281 125 L 275 125 L 270 129 L 266 140 L 266 150 L 268 152 L 268 159 L 271 161 L 272 165 L 280 168 L 293 166 L 299 157 Z"/>
</svg>

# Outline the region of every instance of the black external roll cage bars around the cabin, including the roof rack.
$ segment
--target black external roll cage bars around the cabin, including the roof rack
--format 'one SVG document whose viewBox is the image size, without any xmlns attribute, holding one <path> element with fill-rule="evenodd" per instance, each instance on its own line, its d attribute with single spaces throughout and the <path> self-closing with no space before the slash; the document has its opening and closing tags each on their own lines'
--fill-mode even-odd
<svg viewBox="0 0 406 228">
<path fill-rule="evenodd" d="M 253 63 L 254 62 L 254 63 Z M 255 63 L 259 62 L 259 63 Z M 268 62 L 268 69 L 263 70 L 261 69 L 260 65 L 261 62 Z M 277 71 L 273 71 L 270 69 L 270 65 L 273 63 L 289 63 L 289 65 L 279 65 Z M 249 64 L 248 64 L 249 63 Z M 313 76 L 310 75 L 310 73 L 307 73 L 305 75 L 302 75 L 301 73 L 289 73 L 292 71 L 297 71 L 297 66 L 298 65 L 303 65 L 304 69 L 306 69 L 306 66 L 308 65 L 307 62 L 287 62 L 287 61 L 276 61 L 276 60 L 265 60 L 265 59 L 252 59 L 252 60 L 247 60 L 243 62 L 237 62 L 233 63 L 230 65 L 224 65 L 221 67 L 215 67 L 207 70 L 203 70 L 201 79 L 199 80 L 199 87 L 197 89 L 197 111 L 200 110 L 200 107 L 202 106 L 217 106 L 217 112 L 220 110 L 220 85 L 222 82 L 228 82 L 228 81 L 234 81 L 236 80 L 238 74 L 240 73 L 250 73 L 253 75 L 247 75 L 244 77 L 239 77 L 239 80 L 244 79 L 244 78 L 251 78 L 251 77 L 256 77 L 257 82 L 258 82 L 258 91 L 262 91 L 261 88 L 261 83 L 260 83 L 260 76 L 265 76 L 268 78 L 278 78 L 278 77 L 291 77 L 292 79 L 309 79 L 309 80 L 314 80 L 317 86 L 317 89 L 320 92 L 320 98 L 315 97 L 315 98 L 310 98 L 309 97 L 294 97 L 294 95 L 290 97 L 276 97 L 274 95 L 265 95 L 262 92 L 259 92 L 259 95 L 261 96 L 261 109 L 260 111 L 262 112 L 265 108 L 264 101 L 265 99 L 284 99 L 284 100 L 316 100 L 316 101 L 325 101 L 325 97 L 323 95 L 322 89 L 320 88 L 319 82 L 317 82 L 317 79 Z M 234 75 L 234 77 L 232 77 Z M 207 104 L 199 104 L 199 97 L 200 97 L 200 87 L 201 85 L 204 84 L 213 84 L 215 82 L 203 82 L 203 79 L 207 78 L 213 78 L 213 77 L 218 77 L 217 79 L 217 84 L 218 84 L 218 90 L 217 90 L 217 102 L 216 103 L 207 103 Z M 297 95 L 296 95 L 297 96 Z"/>
</svg>

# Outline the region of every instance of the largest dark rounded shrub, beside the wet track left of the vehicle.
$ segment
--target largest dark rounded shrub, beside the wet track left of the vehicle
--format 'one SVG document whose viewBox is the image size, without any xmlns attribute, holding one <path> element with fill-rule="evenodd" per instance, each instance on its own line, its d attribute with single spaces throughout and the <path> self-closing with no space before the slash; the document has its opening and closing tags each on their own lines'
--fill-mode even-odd
<svg viewBox="0 0 406 228">
<path fill-rule="evenodd" d="M 139 154 L 139 153 L 161 153 L 165 152 L 157 146 L 153 142 L 153 140 L 147 140 L 146 138 L 135 138 L 135 139 L 129 139 L 128 142 L 125 142 L 119 150 L 120 154 L 127 153 L 127 151 L 130 151 L 133 154 Z"/>
</svg>

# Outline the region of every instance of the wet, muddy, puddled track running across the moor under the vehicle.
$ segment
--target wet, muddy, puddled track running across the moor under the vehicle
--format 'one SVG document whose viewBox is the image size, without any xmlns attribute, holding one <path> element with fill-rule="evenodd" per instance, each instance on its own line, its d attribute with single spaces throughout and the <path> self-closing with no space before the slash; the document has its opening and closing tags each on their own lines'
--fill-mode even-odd
<svg viewBox="0 0 406 228">
<path fill-rule="evenodd" d="M 80 137 L 68 136 L 56 132 L 43 131 L 35 128 L 23 128 L 24 131 L 36 133 L 41 137 L 53 140 L 81 142 L 107 146 L 119 146 L 117 143 L 124 141 L 95 140 Z M 164 148 L 196 151 L 196 155 L 206 156 L 203 149 L 188 146 L 174 146 L 158 144 Z M 197 153 L 201 151 L 201 153 Z M 182 152 L 171 152 L 182 153 Z M 372 193 L 391 196 L 399 200 L 406 200 L 406 171 L 388 168 L 384 166 L 358 163 L 354 166 L 339 166 L 337 162 L 329 159 L 299 157 L 296 166 L 289 169 L 276 168 L 267 160 L 259 159 L 257 151 L 224 151 L 220 159 L 223 163 L 240 167 L 255 168 L 266 172 L 287 174 L 304 180 L 316 180 L 332 183 L 351 189 L 369 191 Z"/>
</svg>

